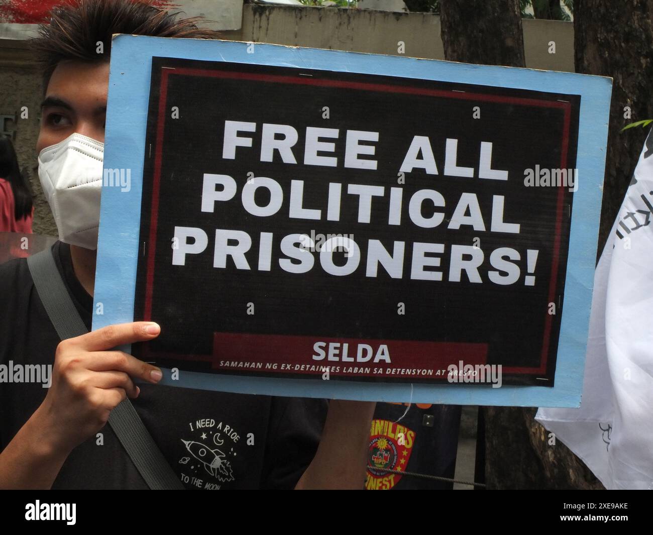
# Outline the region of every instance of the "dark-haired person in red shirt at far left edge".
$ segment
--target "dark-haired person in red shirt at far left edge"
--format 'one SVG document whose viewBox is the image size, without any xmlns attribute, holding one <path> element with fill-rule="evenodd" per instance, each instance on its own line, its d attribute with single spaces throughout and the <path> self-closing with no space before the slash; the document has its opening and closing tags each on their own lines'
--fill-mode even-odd
<svg viewBox="0 0 653 535">
<path fill-rule="evenodd" d="M 34 205 L 11 140 L 0 139 L 0 232 L 32 233 Z"/>
</svg>

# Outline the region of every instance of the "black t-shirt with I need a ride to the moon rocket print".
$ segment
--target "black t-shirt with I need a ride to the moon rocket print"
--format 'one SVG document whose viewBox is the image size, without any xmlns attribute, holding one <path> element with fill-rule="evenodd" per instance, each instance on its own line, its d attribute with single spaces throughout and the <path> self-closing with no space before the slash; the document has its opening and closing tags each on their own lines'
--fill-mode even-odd
<svg viewBox="0 0 653 535">
<path fill-rule="evenodd" d="M 74 275 L 70 248 L 52 246 L 84 323 L 93 302 Z M 0 365 L 52 365 L 57 333 L 27 262 L 0 266 Z M 12 375 L 12 378 L 20 376 Z M 139 383 L 138 415 L 187 489 L 293 488 L 313 459 L 328 403 L 323 399 L 221 393 Z M 42 383 L 0 383 L 0 449 L 45 398 Z M 146 489 L 109 425 L 76 447 L 54 489 Z"/>
</svg>

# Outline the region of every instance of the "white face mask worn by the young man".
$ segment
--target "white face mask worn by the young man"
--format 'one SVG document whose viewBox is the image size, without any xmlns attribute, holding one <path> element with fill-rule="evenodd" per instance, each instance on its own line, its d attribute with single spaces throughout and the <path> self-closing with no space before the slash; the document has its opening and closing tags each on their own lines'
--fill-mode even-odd
<svg viewBox="0 0 653 535">
<path fill-rule="evenodd" d="M 59 240 L 97 249 L 104 143 L 74 133 L 39 154 L 39 178 Z"/>
</svg>

